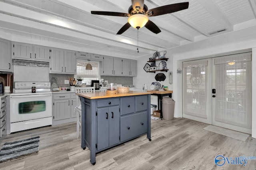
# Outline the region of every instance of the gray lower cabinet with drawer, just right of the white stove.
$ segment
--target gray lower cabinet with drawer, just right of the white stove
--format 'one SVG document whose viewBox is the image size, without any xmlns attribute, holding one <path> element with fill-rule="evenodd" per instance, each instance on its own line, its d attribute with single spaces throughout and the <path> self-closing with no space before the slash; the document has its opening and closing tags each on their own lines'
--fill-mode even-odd
<svg viewBox="0 0 256 170">
<path fill-rule="evenodd" d="M 55 93 L 52 96 L 52 125 L 76 121 L 74 107 L 76 98 L 73 93 Z"/>
</svg>

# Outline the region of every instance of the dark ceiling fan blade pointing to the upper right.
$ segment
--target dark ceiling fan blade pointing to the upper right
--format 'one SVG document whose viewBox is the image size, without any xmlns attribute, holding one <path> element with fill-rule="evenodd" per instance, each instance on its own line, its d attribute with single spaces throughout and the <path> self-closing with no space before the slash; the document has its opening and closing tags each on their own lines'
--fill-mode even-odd
<svg viewBox="0 0 256 170">
<path fill-rule="evenodd" d="M 165 5 L 165 6 L 160 6 L 157 8 L 150 9 L 146 12 L 146 14 L 149 17 L 152 16 L 160 16 L 164 14 L 170 14 L 172 12 L 177 12 L 180 10 L 185 10 L 188 8 L 188 2 L 182 2 L 182 3 L 177 3 L 177 4 L 170 4 L 170 5 Z"/>
</svg>

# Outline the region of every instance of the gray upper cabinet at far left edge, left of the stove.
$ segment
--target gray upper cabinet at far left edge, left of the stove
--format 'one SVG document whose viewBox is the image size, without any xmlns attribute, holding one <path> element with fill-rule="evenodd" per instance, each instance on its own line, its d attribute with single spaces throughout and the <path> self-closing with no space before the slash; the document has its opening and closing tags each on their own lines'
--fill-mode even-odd
<svg viewBox="0 0 256 170">
<path fill-rule="evenodd" d="M 0 71 L 13 72 L 10 41 L 0 39 Z"/>
</svg>

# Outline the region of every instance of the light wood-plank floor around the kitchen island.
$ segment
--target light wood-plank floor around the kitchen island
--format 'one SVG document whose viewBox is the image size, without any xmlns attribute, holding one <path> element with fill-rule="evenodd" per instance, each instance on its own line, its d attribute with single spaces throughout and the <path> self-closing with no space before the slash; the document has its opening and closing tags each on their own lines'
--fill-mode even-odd
<svg viewBox="0 0 256 170">
<path fill-rule="evenodd" d="M 216 166 L 214 158 L 256 156 L 256 139 L 243 142 L 219 135 L 203 128 L 207 124 L 185 118 L 166 121 L 152 120 L 152 141 L 142 135 L 132 141 L 96 154 L 96 165 L 90 164 L 90 150 L 80 147 L 76 139 L 76 123 L 41 127 L 7 135 L 0 139 L 0 147 L 7 141 L 40 136 L 36 155 L 0 164 L 1 169 L 50 170 L 255 170 L 256 160 L 246 166 Z"/>
</svg>

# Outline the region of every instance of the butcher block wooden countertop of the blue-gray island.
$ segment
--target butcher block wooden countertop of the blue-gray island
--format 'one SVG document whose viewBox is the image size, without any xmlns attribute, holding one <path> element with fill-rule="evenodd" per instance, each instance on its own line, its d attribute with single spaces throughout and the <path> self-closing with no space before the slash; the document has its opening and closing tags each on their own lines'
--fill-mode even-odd
<svg viewBox="0 0 256 170">
<path fill-rule="evenodd" d="M 106 92 L 94 92 L 94 93 L 76 93 L 78 96 L 82 96 L 87 99 L 103 99 L 103 98 L 116 98 L 124 96 L 137 96 L 145 94 L 153 94 L 152 92 L 138 92 L 138 91 L 129 91 L 128 93 L 116 93 L 116 94 L 107 94 Z"/>
</svg>

